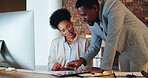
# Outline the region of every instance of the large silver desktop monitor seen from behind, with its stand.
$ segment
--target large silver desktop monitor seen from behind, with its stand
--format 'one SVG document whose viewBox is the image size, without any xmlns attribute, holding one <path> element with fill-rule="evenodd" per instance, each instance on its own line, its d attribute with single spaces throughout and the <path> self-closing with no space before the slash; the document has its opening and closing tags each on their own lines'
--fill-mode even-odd
<svg viewBox="0 0 148 78">
<path fill-rule="evenodd" d="M 32 11 L 0 13 L 0 66 L 35 69 L 33 15 Z"/>
</svg>

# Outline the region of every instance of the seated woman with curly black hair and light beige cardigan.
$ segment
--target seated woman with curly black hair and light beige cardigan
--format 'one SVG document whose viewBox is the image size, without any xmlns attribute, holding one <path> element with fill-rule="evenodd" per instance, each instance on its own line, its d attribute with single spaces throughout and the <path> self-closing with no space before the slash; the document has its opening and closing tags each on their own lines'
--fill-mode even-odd
<svg viewBox="0 0 148 78">
<path fill-rule="evenodd" d="M 67 63 L 80 59 L 90 45 L 88 39 L 75 33 L 70 18 L 70 12 L 67 9 L 58 9 L 50 17 L 51 27 L 58 29 L 63 36 L 52 40 L 48 60 L 49 70 L 65 70 Z M 81 65 L 78 70 L 85 70 L 85 68 Z"/>
</svg>

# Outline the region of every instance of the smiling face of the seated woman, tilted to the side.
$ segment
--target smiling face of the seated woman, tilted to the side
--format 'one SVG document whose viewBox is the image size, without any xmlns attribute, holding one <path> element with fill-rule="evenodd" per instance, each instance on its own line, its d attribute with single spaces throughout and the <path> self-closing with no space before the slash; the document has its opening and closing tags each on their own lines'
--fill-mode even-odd
<svg viewBox="0 0 148 78">
<path fill-rule="evenodd" d="M 66 36 L 66 38 L 73 38 L 76 36 L 76 33 L 73 28 L 73 24 L 67 20 L 63 20 L 58 24 L 58 29 L 60 32 Z"/>
</svg>

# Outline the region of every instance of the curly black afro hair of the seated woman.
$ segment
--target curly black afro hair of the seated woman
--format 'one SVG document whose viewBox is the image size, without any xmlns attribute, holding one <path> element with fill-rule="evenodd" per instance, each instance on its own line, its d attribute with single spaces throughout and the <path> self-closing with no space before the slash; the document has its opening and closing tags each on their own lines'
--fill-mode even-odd
<svg viewBox="0 0 148 78">
<path fill-rule="evenodd" d="M 63 21 L 67 20 L 70 22 L 70 12 L 67 9 L 58 9 L 50 17 L 50 25 L 53 29 L 58 29 L 58 24 Z"/>
</svg>

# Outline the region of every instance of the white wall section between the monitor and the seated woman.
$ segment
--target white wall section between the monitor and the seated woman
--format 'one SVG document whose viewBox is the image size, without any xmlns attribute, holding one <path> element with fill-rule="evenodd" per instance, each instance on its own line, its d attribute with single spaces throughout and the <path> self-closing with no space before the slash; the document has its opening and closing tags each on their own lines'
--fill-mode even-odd
<svg viewBox="0 0 148 78">
<path fill-rule="evenodd" d="M 60 35 L 49 26 L 49 17 L 53 11 L 62 7 L 62 0 L 27 0 L 27 10 L 34 11 L 35 26 L 35 64 L 47 66 L 52 39 Z M 43 67 L 44 68 L 44 67 Z"/>
</svg>

